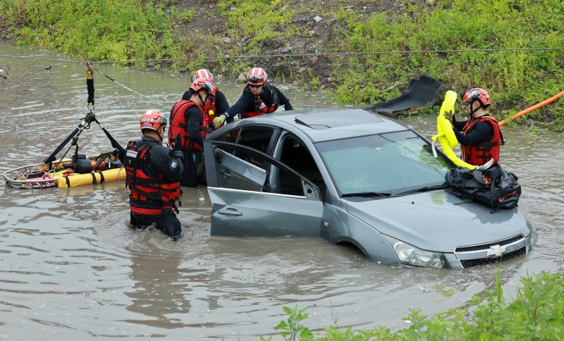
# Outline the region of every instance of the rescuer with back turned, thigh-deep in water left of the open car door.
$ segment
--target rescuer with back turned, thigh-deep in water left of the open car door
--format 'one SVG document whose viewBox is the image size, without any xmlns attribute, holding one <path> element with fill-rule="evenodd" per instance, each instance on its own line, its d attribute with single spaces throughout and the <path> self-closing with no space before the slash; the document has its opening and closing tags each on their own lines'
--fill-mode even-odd
<svg viewBox="0 0 564 341">
<path fill-rule="evenodd" d="M 180 199 L 184 153 L 181 137 L 173 150 L 161 143 L 166 118 L 159 110 L 143 113 L 139 141 L 128 142 L 125 154 L 126 186 L 129 188 L 130 218 L 133 228 L 155 228 L 178 240 L 180 221 L 175 202 Z"/>
</svg>

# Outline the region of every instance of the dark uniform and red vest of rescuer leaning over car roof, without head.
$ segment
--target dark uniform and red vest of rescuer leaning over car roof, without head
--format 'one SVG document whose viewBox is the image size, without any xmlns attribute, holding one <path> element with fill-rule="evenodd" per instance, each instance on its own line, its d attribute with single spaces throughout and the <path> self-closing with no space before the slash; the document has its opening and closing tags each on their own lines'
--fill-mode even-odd
<svg viewBox="0 0 564 341">
<path fill-rule="evenodd" d="M 233 119 L 235 115 L 240 118 L 254 117 L 272 113 L 283 105 L 285 110 L 293 110 L 290 100 L 274 85 L 264 84 L 262 92 L 255 96 L 247 85 L 243 89 L 243 94 L 233 106 L 231 106 L 224 115 L 226 120 Z"/>
</svg>

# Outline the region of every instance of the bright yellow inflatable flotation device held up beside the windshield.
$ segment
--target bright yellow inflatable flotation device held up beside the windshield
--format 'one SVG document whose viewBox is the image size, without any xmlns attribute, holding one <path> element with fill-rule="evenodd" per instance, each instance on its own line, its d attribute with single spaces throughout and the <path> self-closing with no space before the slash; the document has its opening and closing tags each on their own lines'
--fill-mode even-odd
<svg viewBox="0 0 564 341">
<path fill-rule="evenodd" d="M 456 92 L 448 90 L 445 94 L 443 104 L 441 105 L 441 111 L 439 111 L 439 115 L 436 116 L 437 135 L 431 137 L 431 140 L 433 140 L 433 156 L 437 157 L 434 142 L 436 142 L 436 140 L 439 140 L 441 148 L 443 149 L 443 153 L 446 154 L 450 161 L 453 161 L 456 166 L 465 167 L 470 169 L 470 171 L 474 171 L 474 169 L 476 169 L 476 166 L 460 160 L 453 151 L 453 147 L 458 146 L 458 140 L 456 140 L 456 136 L 454 135 L 452 123 L 450 123 L 450 120 L 448 120 L 444 116 L 445 113 L 449 112 L 454 114 L 456 96 Z"/>
</svg>

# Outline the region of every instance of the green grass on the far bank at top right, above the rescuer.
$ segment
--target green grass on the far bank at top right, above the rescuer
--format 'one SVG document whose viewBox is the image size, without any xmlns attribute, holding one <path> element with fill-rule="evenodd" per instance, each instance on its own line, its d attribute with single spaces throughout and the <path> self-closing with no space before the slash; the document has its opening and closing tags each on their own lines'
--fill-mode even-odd
<svg viewBox="0 0 564 341">
<path fill-rule="evenodd" d="M 344 51 L 425 51 L 564 46 L 564 2 L 551 0 L 441 1 L 432 11 L 408 5 L 407 13 L 377 13 L 360 22 L 354 13 L 336 10 L 345 37 Z M 385 54 L 351 58 L 341 74 L 338 97 L 350 102 L 384 101 L 391 81 L 426 74 L 446 89 L 462 92 L 484 87 L 494 110 L 525 109 L 564 89 L 564 51 L 453 52 L 448 54 Z M 562 119 L 562 105 L 531 117 Z M 535 116 L 536 115 L 536 116 Z M 559 121 L 560 122 L 560 121 Z M 561 125 L 561 123 L 559 123 Z"/>
</svg>

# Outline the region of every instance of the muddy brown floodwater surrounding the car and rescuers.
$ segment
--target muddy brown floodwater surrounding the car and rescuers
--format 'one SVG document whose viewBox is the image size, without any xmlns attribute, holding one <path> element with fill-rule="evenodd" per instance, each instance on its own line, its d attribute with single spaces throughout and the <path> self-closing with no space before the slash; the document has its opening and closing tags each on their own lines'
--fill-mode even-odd
<svg viewBox="0 0 564 341">
<path fill-rule="evenodd" d="M 0 55 L 63 58 L 0 42 Z M 0 58 L 11 77 L 0 80 L 0 171 L 35 163 L 66 137 L 85 113 L 85 67 L 57 61 Z M 51 65 L 50 70 L 43 70 Z M 142 94 L 95 74 L 97 118 L 125 144 L 136 139 L 146 109 L 168 108 L 185 76 L 100 66 Z M 230 103 L 241 85 L 218 77 Z M 281 83 L 274 80 L 274 84 Z M 324 94 L 283 86 L 295 108 L 337 106 Z M 401 118 L 423 134 L 434 116 Z M 520 277 L 564 271 L 562 166 L 564 137 L 504 128 L 503 165 L 520 176 L 520 209 L 536 226 L 537 245 L 505 261 L 505 296 Z M 85 154 L 109 151 L 93 124 L 80 135 Z M 0 338 L 84 340 L 168 337 L 171 340 L 254 340 L 277 335 L 283 306 L 306 308 L 312 330 L 332 325 L 403 328 L 410 308 L 423 314 L 461 306 L 493 289 L 496 266 L 462 271 L 391 268 L 321 238 L 210 236 L 205 187 L 185 189 L 183 238 L 128 228 L 123 182 L 70 189 L 0 186 Z M 446 232 L 448 233 L 448 232 Z M 274 339 L 281 339 L 275 336 Z"/>
</svg>

